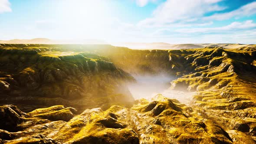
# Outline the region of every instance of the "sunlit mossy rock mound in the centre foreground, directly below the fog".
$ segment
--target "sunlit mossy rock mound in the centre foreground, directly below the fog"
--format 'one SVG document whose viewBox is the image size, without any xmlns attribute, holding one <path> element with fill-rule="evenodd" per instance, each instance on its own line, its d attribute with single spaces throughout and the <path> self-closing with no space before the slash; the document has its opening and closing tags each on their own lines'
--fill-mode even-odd
<svg viewBox="0 0 256 144">
<path fill-rule="evenodd" d="M 151 101 L 142 100 L 139 105 L 134 106 L 134 109 L 146 112 L 146 115 L 153 116 L 153 118 L 155 116 L 155 119 L 151 119 L 151 117 L 141 115 L 136 119 L 139 121 L 139 125 L 145 127 L 140 128 L 141 131 L 145 132 L 141 137 L 146 141 L 145 143 L 183 144 L 198 143 L 199 141 L 201 143 L 231 143 L 228 134 L 212 121 L 203 119 L 197 111 L 193 111 L 185 105 L 174 103 L 161 95 Z M 206 134 L 208 132 L 209 134 Z M 213 140 L 210 138 L 211 132 L 220 135 L 213 134 L 216 137 Z"/>
</svg>

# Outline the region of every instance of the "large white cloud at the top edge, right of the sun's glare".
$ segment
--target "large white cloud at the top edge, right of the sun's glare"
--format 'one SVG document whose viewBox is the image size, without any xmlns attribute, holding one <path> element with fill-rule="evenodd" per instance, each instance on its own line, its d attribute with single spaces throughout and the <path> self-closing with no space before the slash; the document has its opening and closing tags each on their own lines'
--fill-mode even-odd
<svg viewBox="0 0 256 144">
<path fill-rule="evenodd" d="M 138 25 L 161 25 L 181 21 L 197 20 L 205 13 L 221 11 L 217 3 L 221 0 L 167 0 L 157 7 L 151 18 L 142 20 Z"/>
</svg>

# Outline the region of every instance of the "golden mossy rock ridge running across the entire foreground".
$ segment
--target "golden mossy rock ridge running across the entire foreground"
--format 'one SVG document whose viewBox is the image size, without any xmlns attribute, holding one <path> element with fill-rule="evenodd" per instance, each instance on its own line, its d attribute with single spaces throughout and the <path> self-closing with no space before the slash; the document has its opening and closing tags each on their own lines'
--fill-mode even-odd
<svg viewBox="0 0 256 144">
<path fill-rule="evenodd" d="M 177 101 L 175 101 L 177 102 Z M 112 106 L 87 109 L 75 115 L 75 109 L 61 105 L 22 113 L 17 132 L 0 131 L 1 141 L 10 144 L 232 144 L 245 142 L 236 131 L 227 133 L 198 111 L 157 95 L 151 101 L 141 99 L 132 108 Z M 19 111 L 12 105 L 1 107 Z M 72 112 L 73 111 L 73 112 Z M 57 114 L 59 113 L 59 114 Z M 70 114 L 70 115 L 69 115 Z M 8 113 L 12 116 L 12 113 Z M 25 116 L 24 116 L 25 115 Z M 54 118 L 56 117 L 57 118 Z M 68 119 L 67 119 L 68 118 Z M 5 119 L 4 119 L 5 120 Z M 246 136 L 248 141 L 253 141 Z"/>
</svg>

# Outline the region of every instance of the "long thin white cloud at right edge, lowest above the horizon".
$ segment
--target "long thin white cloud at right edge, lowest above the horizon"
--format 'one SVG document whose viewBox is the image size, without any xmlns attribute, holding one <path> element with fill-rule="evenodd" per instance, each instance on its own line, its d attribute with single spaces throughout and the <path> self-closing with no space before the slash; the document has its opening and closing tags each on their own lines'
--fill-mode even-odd
<svg viewBox="0 0 256 144">
<path fill-rule="evenodd" d="M 224 33 L 229 31 L 247 30 L 256 28 L 256 23 L 253 20 L 246 20 L 245 22 L 233 22 L 227 26 L 211 27 L 211 28 L 190 28 L 190 29 L 177 29 L 179 33 Z"/>
</svg>

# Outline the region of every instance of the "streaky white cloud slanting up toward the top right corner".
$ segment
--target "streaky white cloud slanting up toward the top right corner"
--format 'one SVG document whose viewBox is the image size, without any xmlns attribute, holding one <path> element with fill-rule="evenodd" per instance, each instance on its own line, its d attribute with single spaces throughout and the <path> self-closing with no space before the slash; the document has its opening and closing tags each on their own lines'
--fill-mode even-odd
<svg viewBox="0 0 256 144">
<path fill-rule="evenodd" d="M 212 16 L 204 17 L 203 20 L 227 20 L 232 17 L 250 16 L 256 13 L 256 2 L 248 3 L 237 10 L 228 13 L 216 13 Z"/>
</svg>

